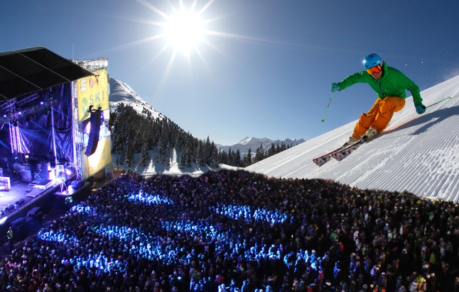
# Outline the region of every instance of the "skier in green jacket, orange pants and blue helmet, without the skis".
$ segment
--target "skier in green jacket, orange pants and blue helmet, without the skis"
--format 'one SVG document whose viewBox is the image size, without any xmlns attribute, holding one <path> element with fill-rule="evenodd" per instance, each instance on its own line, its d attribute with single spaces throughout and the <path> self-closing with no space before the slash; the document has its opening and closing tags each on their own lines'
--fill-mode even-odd
<svg viewBox="0 0 459 292">
<path fill-rule="evenodd" d="M 413 96 L 416 112 L 426 111 L 422 104 L 419 86 L 406 77 L 398 69 L 387 66 L 377 54 L 369 54 L 363 61 L 365 71 L 346 77 L 342 82 L 333 82 L 331 91 L 341 91 L 356 83 L 367 83 L 377 93 L 377 99 L 368 113 L 362 113 L 354 128 L 354 133 L 342 147 L 347 147 L 360 140 L 369 140 L 384 130 L 392 119 L 394 112 L 401 111 L 405 106 L 408 89 Z"/>
</svg>

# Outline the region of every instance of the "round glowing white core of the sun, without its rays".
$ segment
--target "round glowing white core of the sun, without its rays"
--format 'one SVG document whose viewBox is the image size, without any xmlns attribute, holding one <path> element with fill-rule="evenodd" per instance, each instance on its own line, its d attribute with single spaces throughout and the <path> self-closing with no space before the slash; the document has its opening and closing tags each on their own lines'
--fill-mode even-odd
<svg viewBox="0 0 459 292">
<path fill-rule="evenodd" d="M 176 11 L 164 24 L 164 35 L 175 50 L 188 54 L 198 50 L 205 35 L 204 23 L 198 13 L 193 11 Z"/>
</svg>

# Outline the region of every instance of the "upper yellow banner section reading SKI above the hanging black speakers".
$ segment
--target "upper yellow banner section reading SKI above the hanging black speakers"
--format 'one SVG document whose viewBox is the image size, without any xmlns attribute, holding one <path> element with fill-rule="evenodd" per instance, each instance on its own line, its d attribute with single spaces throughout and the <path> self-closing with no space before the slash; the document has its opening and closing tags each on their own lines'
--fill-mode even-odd
<svg viewBox="0 0 459 292">
<path fill-rule="evenodd" d="M 99 69 L 94 75 L 77 80 L 78 120 L 90 117 L 88 109 L 109 109 L 109 79 L 107 68 Z"/>
</svg>

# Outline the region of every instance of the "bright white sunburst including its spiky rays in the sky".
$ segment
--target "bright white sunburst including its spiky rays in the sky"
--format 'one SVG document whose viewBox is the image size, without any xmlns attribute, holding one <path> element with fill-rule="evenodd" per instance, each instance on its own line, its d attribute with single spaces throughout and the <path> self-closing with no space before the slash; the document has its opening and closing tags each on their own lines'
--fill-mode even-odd
<svg viewBox="0 0 459 292">
<path fill-rule="evenodd" d="M 183 72 L 183 61 L 185 61 L 188 64 L 189 72 L 192 72 L 192 65 L 198 64 L 196 60 L 200 60 L 202 68 L 206 68 L 209 71 L 209 76 L 212 76 L 213 74 L 210 73 L 211 66 L 208 63 L 211 57 L 207 53 L 217 52 L 224 57 L 231 58 L 232 56 L 222 50 L 221 42 L 217 43 L 216 38 L 247 43 L 279 43 L 276 40 L 226 33 L 215 30 L 215 27 L 212 28 L 215 21 L 221 21 L 228 17 L 225 13 L 212 15 L 212 12 L 215 13 L 215 11 L 212 11 L 210 7 L 215 3 L 215 0 L 165 0 L 167 5 L 161 7 L 156 6 L 156 2 L 159 1 L 136 1 L 153 12 L 147 19 L 135 19 L 135 21 L 153 26 L 153 34 L 117 48 L 124 49 L 149 42 L 158 44 L 154 47 L 151 61 L 145 64 L 147 66 L 153 60 L 160 59 L 160 56 L 161 60 L 168 60 L 163 69 L 163 77 L 158 84 L 156 95 L 159 95 L 165 86 L 168 77 L 173 72 L 175 63 L 178 63 L 180 72 Z M 170 57 L 163 58 L 168 52 L 171 53 Z"/>
</svg>

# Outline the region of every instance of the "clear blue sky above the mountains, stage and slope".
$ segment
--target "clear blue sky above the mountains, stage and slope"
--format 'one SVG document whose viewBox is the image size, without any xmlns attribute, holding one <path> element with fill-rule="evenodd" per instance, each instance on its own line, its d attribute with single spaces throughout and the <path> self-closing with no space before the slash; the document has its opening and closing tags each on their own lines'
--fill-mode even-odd
<svg viewBox="0 0 459 292">
<path fill-rule="evenodd" d="M 202 22 L 186 53 L 165 36 L 181 10 Z M 372 106 L 376 94 L 356 84 L 334 94 L 321 123 L 330 84 L 361 71 L 370 52 L 421 90 L 458 75 L 458 13 L 459 1 L 216 0 L 180 8 L 162 0 L 0 0 L 0 51 L 43 45 L 68 59 L 108 57 L 110 77 L 200 139 L 308 140 Z"/>
</svg>

